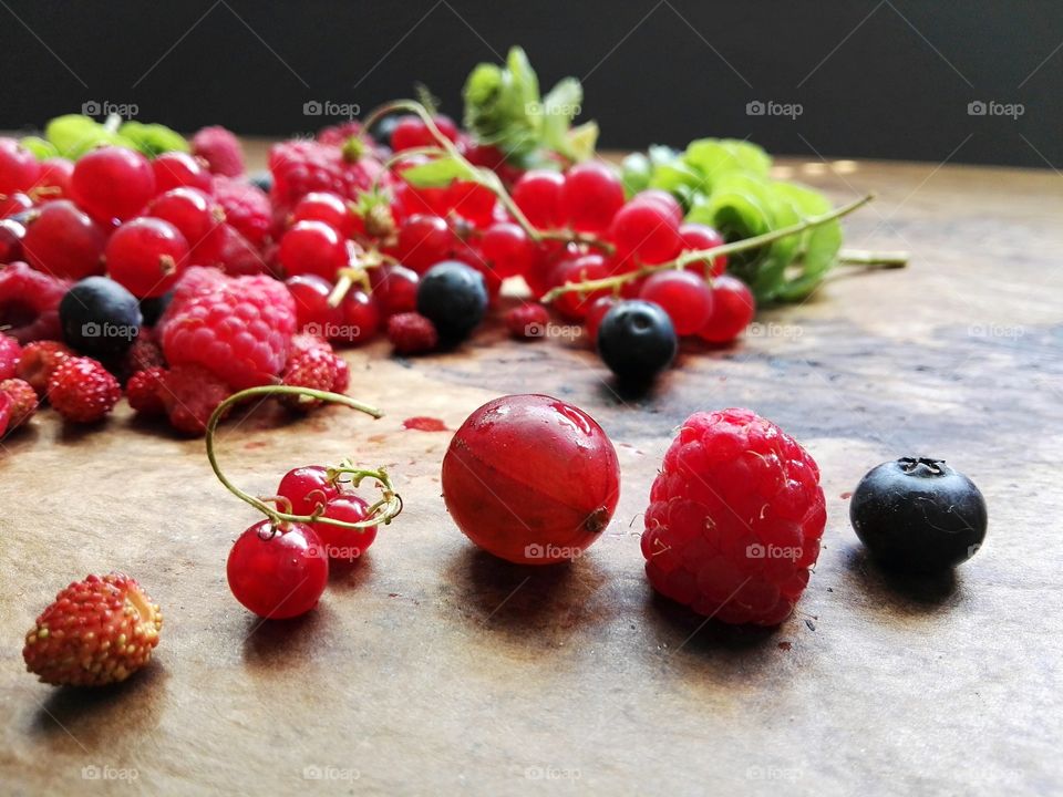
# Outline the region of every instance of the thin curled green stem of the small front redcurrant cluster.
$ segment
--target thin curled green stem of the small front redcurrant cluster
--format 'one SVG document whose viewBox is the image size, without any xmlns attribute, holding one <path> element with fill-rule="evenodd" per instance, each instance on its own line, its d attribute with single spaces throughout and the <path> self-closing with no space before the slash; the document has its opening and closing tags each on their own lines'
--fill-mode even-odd
<svg viewBox="0 0 1063 797">
<path fill-rule="evenodd" d="M 329 468 L 330 478 L 336 478 L 341 474 L 352 474 L 354 478 L 351 479 L 351 483 L 355 487 L 362 482 L 362 479 L 372 478 L 376 480 L 383 489 L 383 497 L 381 500 L 373 504 L 369 509 L 370 517 L 358 522 L 336 520 L 327 515 L 320 515 L 317 511 L 314 511 L 312 515 L 292 515 L 290 511 L 280 511 L 278 509 L 274 509 L 266 503 L 268 500 L 276 500 L 276 496 L 267 497 L 265 499 L 256 498 L 249 493 L 245 493 L 229 480 L 229 478 L 221 472 L 221 467 L 218 465 L 217 451 L 215 448 L 215 433 L 218 427 L 218 422 L 234 404 L 238 404 L 248 398 L 255 398 L 258 396 L 269 397 L 277 395 L 306 395 L 320 401 L 331 402 L 333 404 L 343 404 L 352 410 L 358 410 L 367 413 L 368 415 L 372 415 L 374 418 L 383 416 L 383 413 L 376 407 L 370 406 L 369 404 L 363 404 L 362 402 L 351 398 L 350 396 L 341 395 L 339 393 L 330 393 L 328 391 L 313 390 L 312 387 L 299 387 L 296 385 L 262 385 L 260 387 L 248 387 L 247 390 L 234 393 L 224 402 L 218 404 L 214 413 L 211 413 L 210 420 L 207 421 L 207 459 L 210 463 L 210 469 L 214 470 L 214 475 L 218 477 L 218 480 L 223 485 L 225 485 L 225 488 L 240 500 L 250 504 L 252 507 L 266 515 L 275 527 L 283 526 L 283 524 L 288 522 L 327 522 L 332 526 L 340 526 L 342 528 L 364 529 L 369 526 L 376 526 L 378 524 L 384 524 L 385 526 L 390 524 L 392 518 L 402 511 L 402 498 L 398 493 L 395 493 L 391 477 L 383 468 L 378 470 L 364 470 L 353 467 L 353 465 L 351 465 L 349 462 L 344 462 L 338 468 Z"/>
</svg>

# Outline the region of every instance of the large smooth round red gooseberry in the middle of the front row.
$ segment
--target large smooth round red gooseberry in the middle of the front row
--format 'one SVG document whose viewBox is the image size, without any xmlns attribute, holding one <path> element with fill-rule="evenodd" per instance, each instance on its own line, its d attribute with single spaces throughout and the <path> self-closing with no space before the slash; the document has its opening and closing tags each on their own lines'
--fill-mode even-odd
<svg viewBox="0 0 1063 797">
<path fill-rule="evenodd" d="M 580 556 L 617 507 L 620 465 L 601 426 L 545 395 L 476 410 L 443 458 L 443 497 L 476 545 L 513 562 Z"/>
</svg>

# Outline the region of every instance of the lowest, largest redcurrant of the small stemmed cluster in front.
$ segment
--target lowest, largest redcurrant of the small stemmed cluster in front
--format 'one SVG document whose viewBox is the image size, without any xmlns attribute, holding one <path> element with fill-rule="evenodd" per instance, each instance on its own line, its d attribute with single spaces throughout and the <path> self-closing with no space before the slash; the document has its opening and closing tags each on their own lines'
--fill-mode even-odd
<svg viewBox="0 0 1063 797">
<path fill-rule="evenodd" d="M 329 581 L 329 559 L 313 529 L 262 520 L 239 536 L 226 575 L 233 596 L 261 618 L 285 620 L 313 609 Z"/>
</svg>

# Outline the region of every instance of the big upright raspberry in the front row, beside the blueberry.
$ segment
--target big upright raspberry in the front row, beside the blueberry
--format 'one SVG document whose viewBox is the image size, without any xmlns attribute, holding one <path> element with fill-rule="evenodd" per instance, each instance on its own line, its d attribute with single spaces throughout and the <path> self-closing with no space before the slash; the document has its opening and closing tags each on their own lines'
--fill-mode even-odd
<svg viewBox="0 0 1063 797">
<path fill-rule="evenodd" d="M 794 609 L 826 522 L 819 468 L 749 410 L 694 413 L 650 490 L 650 583 L 730 623 L 777 625 Z"/>
</svg>

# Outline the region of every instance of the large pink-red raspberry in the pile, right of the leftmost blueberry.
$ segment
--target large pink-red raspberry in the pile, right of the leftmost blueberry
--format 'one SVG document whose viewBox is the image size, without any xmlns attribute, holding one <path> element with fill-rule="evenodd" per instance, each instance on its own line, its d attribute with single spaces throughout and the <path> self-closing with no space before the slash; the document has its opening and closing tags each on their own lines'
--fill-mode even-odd
<svg viewBox="0 0 1063 797">
<path fill-rule="evenodd" d="M 172 365 L 203 365 L 234 390 L 269 384 L 288 360 L 296 308 L 283 282 L 192 267 L 158 324 Z"/>
</svg>

